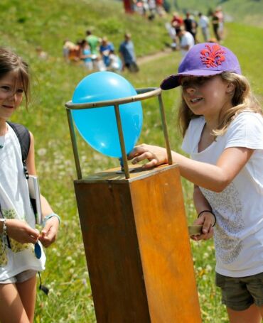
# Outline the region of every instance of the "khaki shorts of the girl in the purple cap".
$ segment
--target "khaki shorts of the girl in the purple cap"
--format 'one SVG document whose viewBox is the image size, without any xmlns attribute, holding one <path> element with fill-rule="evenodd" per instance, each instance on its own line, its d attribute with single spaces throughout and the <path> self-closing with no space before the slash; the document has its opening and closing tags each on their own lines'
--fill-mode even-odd
<svg viewBox="0 0 263 323">
<path fill-rule="evenodd" d="M 215 285 L 221 288 L 222 304 L 232 310 L 247 310 L 250 305 L 263 305 L 263 273 L 233 278 L 215 275 Z"/>
</svg>

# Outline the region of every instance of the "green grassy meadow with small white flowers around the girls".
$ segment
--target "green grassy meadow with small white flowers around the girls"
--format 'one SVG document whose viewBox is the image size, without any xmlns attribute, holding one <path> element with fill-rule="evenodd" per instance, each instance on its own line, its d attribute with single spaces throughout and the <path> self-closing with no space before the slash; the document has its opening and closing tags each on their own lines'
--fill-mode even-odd
<svg viewBox="0 0 263 323">
<path fill-rule="evenodd" d="M 143 57 L 163 50 L 170 41 L 164 28 L 170 16 L 158 17 L 153 22 L 137 15 L 125 16 L 122 4 L 109 0 L 1 0 L 0 17 L 0 45 L 16 50 L 29 62 L 32 71 L 31 106 L 28 111 L 22 106 L 12 120 L 28 126 L 34 134 L 41 192 L 62 218 L 58 240 L 46 249 L 48 261 L 42 280 L 50 293 L 47 297 L 38 291 L 35 322 L 96 322 L 75 202 L 73 180 L 77 176 L 65 112 L 65 103 L 70 101 L 77 83 L 87 71 L 82 65 L 63 60 L 63 40 L 83 38 L 86 29 L 92 28 L 97 35 L 107 35 L 118 48 L 124 32 L 129 30 L 137 55 Z M 262 39 L 262 28 L 242 21 L 225 24 L 223 45 L 237 54 L 243 74 L 263 103 Z M 48 53 L 46 60 L 36 54 L 38 46 Z M 180 60 L 180 53 L 168 53 L 141 64 L 136 75 L 124 72 L 123 76 L 135 88 L 159 87 L 164 77 L 176 72 Z M 176 114 L 180 95 L 180 89 L 163 92 L 171 147 L 179 152 L 182 137 Z M 144 125 L 139 143 L 163 146 L 158 102 L 149 99 L 142 102 L 142 106 Z M 78 145 L 84 175 L 119 165 L 116 158 L 97 153 L 79 136 Z M 196 217 L 193 185 L 183 179 L 182 185 L 188 223 L 191 224 Z M 190 244 L 203 322 L 227 322 L 225 308 L 220 305 L 220 292 L 214 283 L 213 240 L 191 241 Z"/>
</svg>

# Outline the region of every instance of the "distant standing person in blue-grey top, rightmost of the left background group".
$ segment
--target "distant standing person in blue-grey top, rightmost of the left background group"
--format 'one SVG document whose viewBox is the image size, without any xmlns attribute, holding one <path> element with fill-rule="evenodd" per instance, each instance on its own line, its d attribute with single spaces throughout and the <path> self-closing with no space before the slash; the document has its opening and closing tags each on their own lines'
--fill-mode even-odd
<svg viewBox="0 0 263 323">
<path fill-rule="evenodd" d="M 130 72 L 139 71 L 139 67 L 136 64 L 134 43 L 132 42 L 132 35 L 130 33 L 125 33 L 124 35 L 124 41 L 119 46 L 119 56 L 122 59 L 122 70 L 127 67 Z"/>
</svg>

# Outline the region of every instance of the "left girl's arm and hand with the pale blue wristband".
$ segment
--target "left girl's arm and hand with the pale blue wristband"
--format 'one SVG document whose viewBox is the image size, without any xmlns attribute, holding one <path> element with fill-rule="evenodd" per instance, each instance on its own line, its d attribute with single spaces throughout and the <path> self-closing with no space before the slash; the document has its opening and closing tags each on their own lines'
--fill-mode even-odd
<svg viewBox="0 0 263 323">
<path fill-rule="evenodd" d="M 28 173 L 31 175 L 36 175 L 36 165 L 35 165 L 35 148 L 34 148 L 34 138 L 33 134 L 30 133 L 31 136 L 31 145 L 28 152 L 28 158 L 26 159 L 26 167 L 28 169 Z M 41 195 L 41 211 L 43 215 L 43 219 L 49 214 L 53 214 L 53 210 L 48 204 L 48 201 Z M 39 236 L 39 240 L 43 243 L 43 246 L 48 247 L 51 243 L 53 243 L 58 234 L 59 220 L 57 217 L 50 217 L 48 221 L 45 222 L 45 227 L 41 231 Z"/>
</svg>

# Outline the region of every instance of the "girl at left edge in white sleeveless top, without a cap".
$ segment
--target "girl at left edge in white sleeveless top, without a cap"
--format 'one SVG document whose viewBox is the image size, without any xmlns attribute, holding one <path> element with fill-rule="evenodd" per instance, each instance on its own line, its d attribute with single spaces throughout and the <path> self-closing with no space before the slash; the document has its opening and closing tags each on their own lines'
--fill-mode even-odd
<svg viewBox="0 0 263 323">
<path fill-rule="evenodd" d="M 6 122 L 29 95 L 28 65 L 10 50 L 0 48 L 0 321 L 33 322 L 36 273 L 45 268 L 43 246 L 55 241 L 60 219 L 41 196 L 43 230 L 35 229 L 35 215 L 21 158 L 21 146 Z M 34 141 L 26 159 L 36 175 Z M 34 245 L 38 253 L 34 252 Z"/>
</svg>

